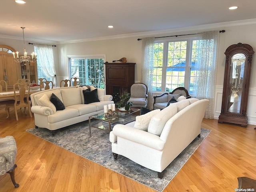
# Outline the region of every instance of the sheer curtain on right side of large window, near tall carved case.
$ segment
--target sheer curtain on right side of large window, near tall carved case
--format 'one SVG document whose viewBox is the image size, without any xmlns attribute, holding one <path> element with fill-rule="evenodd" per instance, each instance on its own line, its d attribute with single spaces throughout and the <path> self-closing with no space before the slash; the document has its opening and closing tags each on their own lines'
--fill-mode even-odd
<svg viewBox="0 0 256 192">
<path fill-rule="evenodd" d="M 199 33 L 198 62 L 196 71 L 196 98 L 210 101 L 204 118 L 214 118 L 214 94 L 216 82 L 219 31 Z"/>
</svg>

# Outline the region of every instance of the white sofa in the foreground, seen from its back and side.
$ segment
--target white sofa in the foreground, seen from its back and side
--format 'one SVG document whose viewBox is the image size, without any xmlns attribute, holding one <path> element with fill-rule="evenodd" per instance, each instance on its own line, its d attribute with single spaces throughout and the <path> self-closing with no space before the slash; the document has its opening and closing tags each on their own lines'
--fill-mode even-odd
<svg viewBox="0 0 256 192">
<path fill-rule="evenodd" d="M 120 154 L 162 178 L 163 170 L 200 137 L 208 104 L 209 100 L 196 98 L 172 103 L 151 118 L 147 131 L 134 128 L 135 122 L 115 125 L 110 132 L 114 159 Z"/>
</svg>

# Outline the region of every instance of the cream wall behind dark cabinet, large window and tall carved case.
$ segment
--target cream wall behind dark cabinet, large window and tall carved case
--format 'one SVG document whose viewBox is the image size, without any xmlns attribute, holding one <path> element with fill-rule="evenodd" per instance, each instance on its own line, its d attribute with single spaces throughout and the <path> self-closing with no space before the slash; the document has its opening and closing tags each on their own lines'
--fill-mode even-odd
<svg viewBox="0 0 256 192">
<path fill-rule="evenodd" d="M 220 43 L 218 51 L 218 66 L 215 86 L 216 107 L 214 114 L 214 118 L 218 119 L 218 116 L 220 115 L 221 111 L 222 89 L 224 81 L 224 68 L 226 58 L 224 52 L 226 51 L 226 48 L 228 48 L 228 46 L 232 44 L 237 44 L 239 42 L 244 44 L 250 44 L 256 51 L 256 38 L 254 38 L 254 34 L 256 32 L 256 24 L 222 27 L 216 30 L 226 30 L 226 32 L 220 33 Z M 198 31 L 186 31 L 183 34 L 190 34 L 196 32 Z M 177 33 L 170 33 L 164 34 L 164 36 L 176 34 Z M 159 34 L 157 36 L 162 35 Z M 176 37 L 173 38 L 175 39 Z M 67 55 L 105 54 L 106 61 L 108 62 L 112 62 L 112 60 L 118 60 L 122 57 L 126 57 L 128 62 L 136 62 L 135 82 L 140 82 L 141 80 L 140 78 L 142 67 L 142 42 L 138 41 L 137 38 L 132 37 L 114 40 L 60 44 L 58 47 L 60 56 L 60 76 L 68 76 Z M 153 102 L 153 100 L 151 102 Z M 256 55 L 253 56 L 252 60 L 252 72 L 247 110 L 249 124 L 256 125 L 256 108 L 254 108 L 254 106 L 256 106 Z"/>
</svg>

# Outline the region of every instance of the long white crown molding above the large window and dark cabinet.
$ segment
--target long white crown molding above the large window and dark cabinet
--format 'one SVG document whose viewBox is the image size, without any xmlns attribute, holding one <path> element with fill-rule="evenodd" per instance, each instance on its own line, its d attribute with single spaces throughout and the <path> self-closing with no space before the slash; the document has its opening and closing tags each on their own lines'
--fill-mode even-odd
<svg viewBox="0 0 256 192">
<path fill-rule="evenodd" d="M 256 19 L 240 20 L 240 21 L 232 21 L 232 22 L 222 22 L 222 23 L 181 27 L 181 28 L 173 28 L 173 29 L 165 29 L 165 30 L 155 30 L 155 31 L 130 33 L 130 34 L 122 34 L 122 35 L 114 35 L 114 36 L 105 36 L 105 37 L 98 37 L 98 38 L 60 41 L 58 43 L 59 44 L 68 44 L 68 43 L 90 42 L 90 41 L 100 41 L 100 40 L 110 40 L 110 39 L 130 38 L 130 37 L 138 38 L 138 37 L 154 36 L 154 35 L 159 35 L 159 34 L 168 34 L 168 33 L 170 34 L 170 33 L 174 33 L 174 32 L 187 32 L 187 31 L 194 31 L 194 30 L 200 31 L 200 30 L 206 30 L 206 29 L 216 29 L 216 28 L 250 25 L 250 24 L 256 24 Z"/>
</svg>

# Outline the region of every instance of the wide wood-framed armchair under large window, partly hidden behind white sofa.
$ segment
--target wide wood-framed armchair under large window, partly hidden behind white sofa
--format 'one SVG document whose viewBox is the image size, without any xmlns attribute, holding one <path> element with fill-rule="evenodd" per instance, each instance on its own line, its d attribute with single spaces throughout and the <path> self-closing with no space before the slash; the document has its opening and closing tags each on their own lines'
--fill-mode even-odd
<svg viewBox="0 0 256 192">
<path fill-rule="evenodd" d="M 188 90 L 186 90 L 186 88 L 178 87 L 170 93 L 163 93 L 161 95 L 154 96 L 154 104 L 153 104 L 154 109 L 166 108 L 168 101 L 170 101 L 173 96 L 176 100 L 180 96 L 184 96 L 186 99 L 191 98 L 191 96 L 188 94 Z"/>
</svg>

